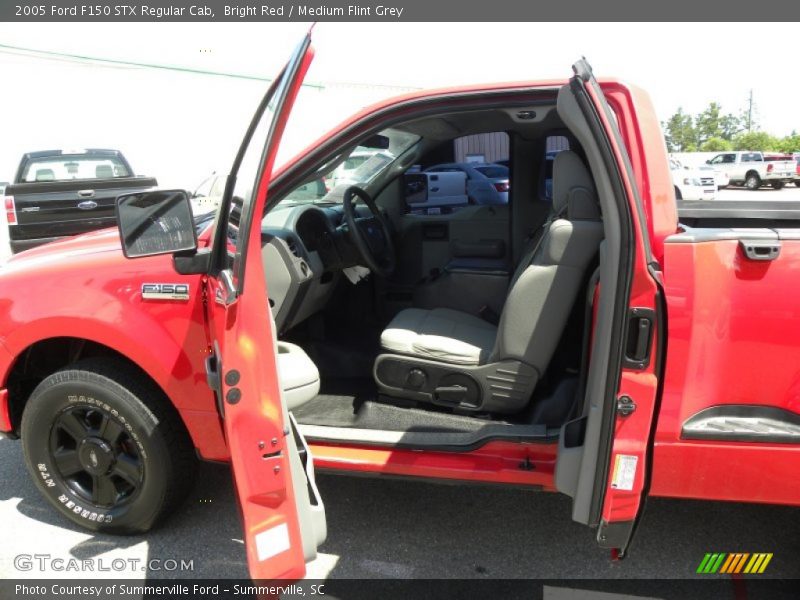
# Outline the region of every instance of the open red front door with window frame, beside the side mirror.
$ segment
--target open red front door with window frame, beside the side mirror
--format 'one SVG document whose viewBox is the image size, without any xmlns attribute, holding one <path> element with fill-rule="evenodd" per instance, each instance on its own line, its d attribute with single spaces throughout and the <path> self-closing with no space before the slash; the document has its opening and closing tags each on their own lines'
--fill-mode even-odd
<svg viewBox="0 0 800 600">
<path fill-rule="evenodd" d="M 206 281 L 206 371 L 224 422 L 250 576 L 258 580 L 303 577 L 326 534 L 311 455 L 282 397 L 261 261 L 278 144 L 312 58 L 309 32 L 253 117 L 226 182 Z"/>
</svg>

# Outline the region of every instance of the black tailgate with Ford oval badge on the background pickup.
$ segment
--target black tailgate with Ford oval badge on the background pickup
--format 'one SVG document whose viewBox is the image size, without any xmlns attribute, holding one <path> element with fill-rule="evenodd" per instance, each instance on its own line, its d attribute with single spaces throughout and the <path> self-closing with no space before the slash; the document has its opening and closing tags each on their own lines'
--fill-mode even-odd
<svg viewBox="0 0 800 600">
<path fill-rule="evenodd" d="M 6 188 L 13 196 L 17 225 L 12 240 L 77 235 L 116 224 L 117 196 L 156 185 L 152 178 L 26 183 Z"/>
</svg>

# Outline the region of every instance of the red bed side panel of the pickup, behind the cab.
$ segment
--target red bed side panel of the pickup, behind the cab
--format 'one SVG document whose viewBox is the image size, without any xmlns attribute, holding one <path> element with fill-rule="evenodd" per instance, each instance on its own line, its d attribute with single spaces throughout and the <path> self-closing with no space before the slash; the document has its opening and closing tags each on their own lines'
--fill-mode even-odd
<svg viewBox="0 0 800 600">
<path fill-rule="evenodd" d="M 799 265 L 797 230 L 667 238 L 653 494 L 800 504 Z"/>
</svg>

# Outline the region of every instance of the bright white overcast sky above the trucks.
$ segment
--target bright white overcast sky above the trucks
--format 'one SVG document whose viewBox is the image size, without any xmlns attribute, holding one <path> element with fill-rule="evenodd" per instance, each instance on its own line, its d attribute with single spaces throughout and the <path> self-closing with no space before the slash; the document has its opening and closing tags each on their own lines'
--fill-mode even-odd
<svg viewBox="0 0 800 600">
<path fill-rule="evenodd" d="M 227 169 L 266 88 L 256 78 L 274 76 L 308 26 L 0 24 L 0 181 L 13 177 L 22 152 L 94 146 L 119 148 L 137 171 L 191 189 L 212 170 Z M 732 40 L 768 48 L 796 33 L 791 23 L 319 23 L 306 81 L 326 90 L 304 88 L 283 158 L 352 112 L 404 90 L 567 78 L 581 56 L 595 74 L 647 90 L 661 120 L 678 107 L 696 113 L 711 101 L 738 113 L 752 89 L 758 123 L 786 135 L 800 130 L 791 61 L 761 51 L 722 59 L 718 49 Z"/>
</svg>

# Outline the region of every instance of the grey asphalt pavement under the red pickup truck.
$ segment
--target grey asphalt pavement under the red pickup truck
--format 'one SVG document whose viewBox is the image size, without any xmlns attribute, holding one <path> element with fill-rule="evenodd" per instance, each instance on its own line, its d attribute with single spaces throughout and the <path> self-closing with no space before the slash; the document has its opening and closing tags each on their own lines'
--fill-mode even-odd
<svg viewBox="0 0 800 600">
<path fill-rule="evenodd" d="M 686 578 L 706 552 L 772 552 L 765 577 L 800 577 L 796 508 L 650 500 L 630 557 L 611 562 L 594 532 L 570 520 L 569 499 L 559 494 L 318 479 L 328 540 L 309 565 L 312 578 Z M 226 466 L 202 464 L 189 501 L 148 535 L 92 535 L 63 520 L 39 495 L 20 444 L 0 440 L 0 523 L 0 578 L 87 576 L 15 566 L 16 556 L 36 553 L 102 559 L 106 566 L 114 559 L 139 561 L 92 577 L 247 577 Z M 165 571 L 170 559 L 191 560 L 192 569 Z"/>
</svg>

